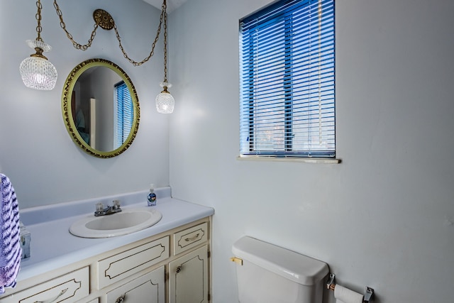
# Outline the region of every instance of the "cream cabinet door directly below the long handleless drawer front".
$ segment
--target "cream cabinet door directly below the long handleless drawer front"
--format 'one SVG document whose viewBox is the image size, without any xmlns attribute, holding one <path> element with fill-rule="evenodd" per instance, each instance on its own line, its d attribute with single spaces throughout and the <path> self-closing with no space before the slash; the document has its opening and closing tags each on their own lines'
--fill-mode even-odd
<svg viewBox="0 0 454 303">
<path fill-rule="evenodd" d="M 165 302 L 165 270 L 157 268 L 124 285 L 107 292 L 107 303 L 164 303 Z"/>
</svg>

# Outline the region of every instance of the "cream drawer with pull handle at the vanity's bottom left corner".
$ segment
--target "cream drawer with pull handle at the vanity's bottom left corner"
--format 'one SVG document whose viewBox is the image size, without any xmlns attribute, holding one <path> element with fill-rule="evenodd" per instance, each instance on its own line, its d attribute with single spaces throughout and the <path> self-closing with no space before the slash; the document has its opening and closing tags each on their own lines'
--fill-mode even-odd
<svg viewBox="0 0 454 303">
<path fill-rule="evenodd" d="M 88 295 L 89 268 L 86 267 L 1 298 L 1 303 L 75 302 Z"/>
</svg>

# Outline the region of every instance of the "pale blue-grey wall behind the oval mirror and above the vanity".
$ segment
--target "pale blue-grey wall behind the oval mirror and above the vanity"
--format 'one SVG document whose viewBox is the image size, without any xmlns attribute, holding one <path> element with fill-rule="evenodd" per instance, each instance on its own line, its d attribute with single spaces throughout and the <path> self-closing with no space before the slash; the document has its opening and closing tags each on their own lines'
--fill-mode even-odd
<svg viewBox="0 0 454 303">
<path fill-rule="evenodd" d="M 135 192 L 169 184 L 168 116 L 155 110 L 162 81 L 162 40 L 152 60 L 133 67 L 125 60 L 114 31 L 99 28 L 92 48 L 73 48 L 60 28 L 52 1 L 43 4 L 43 35 L 57 68 L 54 90 L 26 88 L 19 74 L 23 59 L 34 53 L 25 43 L 36 38 L 35 1 L 0 1 L 0 170 L 11 178 L 21 209 L 30 206 Z M 68 31 L 87 43 L 92 14 L 105 9 L 116 21 L 128 55 L 140 61 L 150 53 L 160 11 L 141 0 L 58 1 Z M 131 148 L 116 158 L 99 159 L 72 142 L 62 119 L 61 96 L 67 75 L 80 62 L 101 57 L 131 77 L 140 102 L 140 127 Z"/>
</svg>

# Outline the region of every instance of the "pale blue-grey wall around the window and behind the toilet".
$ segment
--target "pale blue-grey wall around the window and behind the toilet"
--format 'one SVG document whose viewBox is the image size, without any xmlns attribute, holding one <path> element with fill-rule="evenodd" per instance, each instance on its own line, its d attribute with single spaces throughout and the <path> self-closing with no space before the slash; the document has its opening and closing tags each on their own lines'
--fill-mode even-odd
<svg viewBox="0 0 454 303">
<path fill-rule="evenodd" d="M 339 165 L 236 160 L 238 19 L 269 2 L 170 15 L 170 184 L 216 209 L 214 302 L 236 302 L 228 258 L 245 234 L 326 261 L 375 302 L 452 301 L 454 2 L 336 1 Z"/>
</svg>

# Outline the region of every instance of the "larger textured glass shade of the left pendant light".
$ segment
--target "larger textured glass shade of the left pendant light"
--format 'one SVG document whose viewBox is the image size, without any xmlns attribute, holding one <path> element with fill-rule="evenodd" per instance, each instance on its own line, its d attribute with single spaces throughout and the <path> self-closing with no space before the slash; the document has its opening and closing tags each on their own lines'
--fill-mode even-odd
<svg viewBox="0 0 454 303">
<path fill-rule="evenodd" d="M 27 40 L 27 43 L 36 50 L 36 53 L 21 62 L 19 70 L 23 84 L 32 89 L 53 89 L 57 82 L 57 69 L 42 54 L 52 48 L 39 40 Z"/>
</svg>

